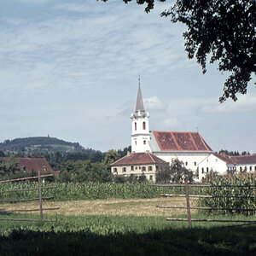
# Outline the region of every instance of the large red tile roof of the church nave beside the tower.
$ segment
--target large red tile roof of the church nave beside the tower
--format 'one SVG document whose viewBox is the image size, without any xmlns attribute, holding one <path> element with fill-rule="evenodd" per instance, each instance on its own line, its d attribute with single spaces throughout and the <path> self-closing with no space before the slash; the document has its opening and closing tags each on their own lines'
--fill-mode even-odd
<svg viewBox="0 0 256 256">
<path fill-rule="evenodd" d="M 212 151 L 198 132 L 153 131 L 163 151 Z"/>
</svg>

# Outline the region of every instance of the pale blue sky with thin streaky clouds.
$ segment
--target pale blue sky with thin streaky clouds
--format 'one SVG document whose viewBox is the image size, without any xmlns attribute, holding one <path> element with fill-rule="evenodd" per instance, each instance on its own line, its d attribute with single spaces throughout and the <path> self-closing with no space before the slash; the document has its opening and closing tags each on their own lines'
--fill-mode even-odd
<svg viewBox="0 0 256 256">
<path fill-rule="evenodd" d="M 172 2 L 172 1 L 171 1 Z M 151 131 L 199 131 L 214 151 L 256 153 L 256 88 L 220 104 L 228 73 L 202 74 L 168 3 L 0 0 L 0 143 L 57 137 L 84 148 L 131 145 L 141 79 Z"/>
</svg>

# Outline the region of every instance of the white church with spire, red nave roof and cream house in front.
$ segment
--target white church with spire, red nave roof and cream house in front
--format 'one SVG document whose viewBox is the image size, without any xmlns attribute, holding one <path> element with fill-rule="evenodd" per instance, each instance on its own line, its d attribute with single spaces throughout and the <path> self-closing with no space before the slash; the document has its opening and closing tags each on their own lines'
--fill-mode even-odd
<svg viewBox="0 0 256 256">
<path fill-rule="evenodd" d="M 155 172 L 172 159 L 182 160 L 194 173 L 198 165 L 212 154 L 212 148 L 198 132 L 150 131 L 149 113 L 145 112 L 140 80 L 135 112 L 131 113 L 131 153 L 111 165 L 114 175 L 145 175 L 155 181 Z"/>
</svg>

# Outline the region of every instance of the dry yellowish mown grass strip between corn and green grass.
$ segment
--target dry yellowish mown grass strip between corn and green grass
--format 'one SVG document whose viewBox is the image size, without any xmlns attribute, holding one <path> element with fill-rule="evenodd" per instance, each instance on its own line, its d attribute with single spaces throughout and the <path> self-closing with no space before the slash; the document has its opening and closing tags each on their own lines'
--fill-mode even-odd
<svg viewBox="0 0 256 256">
<path fill-rule="evenodd" d="M 190 201 L 195 206 L 195 200 Z M 154 198 L 154 199 L 108 199 L 95 201 L 48 201 L 46 207 L 60 207 L 59 210 L 47 211 L 47 214 L 62 214 L 67 216 L 80 215 L 133 215 L 133 216 L 177 216 L 186 213 L 186 209 L 161 209 L 156 206 L 185 207 L 184 198 Z M 38 203 L 3 204 L 1 210 L 15 211 L 17 209 L 36 209 Z M 46 211 L 45 211 L 46 212 Z"/>
</svg>

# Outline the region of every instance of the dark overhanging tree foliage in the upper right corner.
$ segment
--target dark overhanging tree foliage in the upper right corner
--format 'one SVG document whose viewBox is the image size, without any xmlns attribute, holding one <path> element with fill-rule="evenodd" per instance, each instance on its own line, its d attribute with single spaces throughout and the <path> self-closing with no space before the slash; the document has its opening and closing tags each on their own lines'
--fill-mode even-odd
<svg viewBox="0 0 256 256">
<path fill-rule="evenodd" d="M 154 9 L 155 2 L 137 0 L 137 4 L 147 4 L 147 13 Z M 189 59 L 195 58 L 201 65 L 203 73 L 207 72 L 207 57 L 210 63 L 218 61 L 220 72 L 230 73 L 219 102 L 228 98 L 236 101 L 238 93 L 246 94 L 248 82 L 256 73 L 255 13 L 255 0 L 176 0 L 161 13 L 170 16 L 173 23 L 179 21 L 187 26 L 183 33 L 185 49 Z"/>
</svg>

